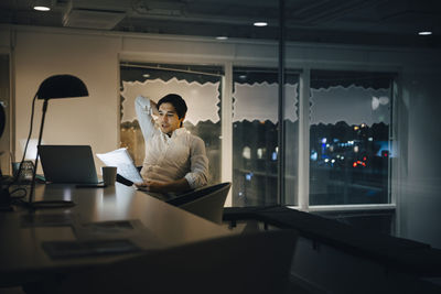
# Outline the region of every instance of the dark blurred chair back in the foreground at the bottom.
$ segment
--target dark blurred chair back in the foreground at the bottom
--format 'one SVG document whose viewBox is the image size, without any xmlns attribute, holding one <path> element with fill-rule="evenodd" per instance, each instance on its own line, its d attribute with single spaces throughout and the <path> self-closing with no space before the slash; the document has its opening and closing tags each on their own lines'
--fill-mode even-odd
<svg viewBox="0 0 441 294">
<path fill-rule="evenodd" d="M 230 235 L 80 271 L 57 293 L 284 293 L 298 233 Z"/>
</svg>

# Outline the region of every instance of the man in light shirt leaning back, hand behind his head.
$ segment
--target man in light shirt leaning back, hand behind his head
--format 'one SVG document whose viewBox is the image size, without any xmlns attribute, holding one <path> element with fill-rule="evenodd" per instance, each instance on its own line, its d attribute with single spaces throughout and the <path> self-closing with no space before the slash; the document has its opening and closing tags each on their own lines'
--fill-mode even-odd
<svg viewBox="0 0 441 294">
<path fill-rule="evenodd" d="M 183 128 L 187 107 L 182 97 L 169 94 L 157 105 L 139 96 L 135 109 L 146 141 L 141 170 L 144 182 L 137 186 L 150 192 L 180 193 L 206 185 L 208 159 L 205 144 Z M 158 116 L 158 126 L 152 115 Z"/>
</svg>

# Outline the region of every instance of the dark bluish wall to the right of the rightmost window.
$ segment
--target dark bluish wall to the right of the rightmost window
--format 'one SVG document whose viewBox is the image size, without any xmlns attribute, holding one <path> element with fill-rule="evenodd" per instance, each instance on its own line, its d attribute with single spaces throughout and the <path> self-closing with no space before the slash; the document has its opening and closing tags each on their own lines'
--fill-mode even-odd
<svg viewBox="0 0 441 294">
<path fill-rule="evenodd" d="M 398 200 L 398 224 L 401 237 L 441 249 L 441 73 L 429 69 L 409 68 L 404 77 L 408 162 Z"/>
</svg>

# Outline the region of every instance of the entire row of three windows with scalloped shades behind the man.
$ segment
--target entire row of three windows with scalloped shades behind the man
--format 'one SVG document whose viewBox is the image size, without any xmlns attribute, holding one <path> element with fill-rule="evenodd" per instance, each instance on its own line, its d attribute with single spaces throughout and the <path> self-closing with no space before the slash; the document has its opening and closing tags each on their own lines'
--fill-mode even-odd
<svg viewBox="0 0 441 294">
<path fill-rule="evenodd" d="M 302 99 L 306 100 L 303 111 L 309 101 L 309 113 L 300 113 L 299 70 L 286 70 L 284 101 L 279 106 L 277 68 L 229 68 L 233 75 L 226 76 L 233 78 L 226 80 L 220 66 L 121 64 L 121 146 L 129 149 L 137 165 L 142 164 L 144 143 L 133 99 L 144 95 L 158 100 L 176 92 L 189 105 L 185 128 L 206 143 L 209 183 L 229 181 L 220 178 L 222 134 L 228 131 L 222 130 L 220 97 L 223 83 L 232 83 L 232 112 L 225 113 L 232 116 L 233 150 L 224 152 L 233 155 L 233 206 L 298 206 L 300 200 L 303 208 L 390 204 L 390 157 L 396 155 L 390 143 L 392 74 L 308 72 L 310 97 Z M 280 107 L 283 152 L 279 148 Z M 300 115 L 309 118 L 309 129 L 299 129 Z M 300 154 L 304 142 L 299 139 L 308 132 L 310 149 Z M 309 161 L 309 174 L 299 167 L 300 156 Z M 280 171 L 283 194 L 279 198 Z M 309 181 L 304 189 L 309 195 L 299 194 L 299 174 Z"/>
</svg>

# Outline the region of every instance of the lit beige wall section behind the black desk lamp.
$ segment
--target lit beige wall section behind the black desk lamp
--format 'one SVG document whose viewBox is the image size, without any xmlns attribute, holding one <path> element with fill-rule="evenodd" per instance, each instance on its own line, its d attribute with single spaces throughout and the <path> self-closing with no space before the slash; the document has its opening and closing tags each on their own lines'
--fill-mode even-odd
<svg viewBox="0 0 441 294">
<path fill-rule="evenodd" d="M 50 100 L 43 140 L 46 144 L 90 144 L 94 152 L 118 146 L 119 37 L 18 31 L 15 33 L 15 155 L 22 154 L 39 85 L 52 75 L 71 74 L 85 81 L 89 97 Z M 35 104 L 37 138 L 42 101 Z M 99 163 L 97 161 L 97 163 Z"/>
</svg>

